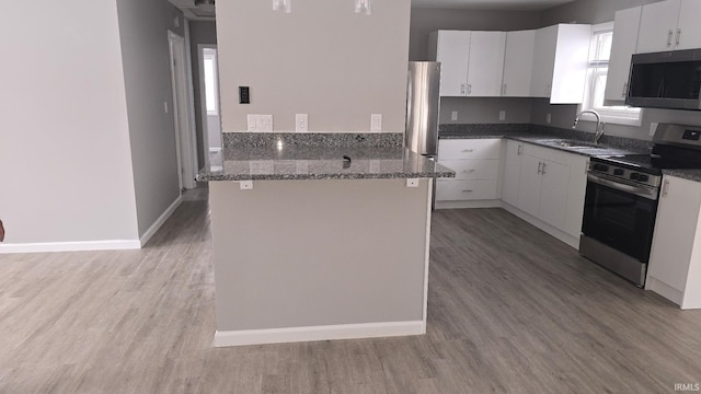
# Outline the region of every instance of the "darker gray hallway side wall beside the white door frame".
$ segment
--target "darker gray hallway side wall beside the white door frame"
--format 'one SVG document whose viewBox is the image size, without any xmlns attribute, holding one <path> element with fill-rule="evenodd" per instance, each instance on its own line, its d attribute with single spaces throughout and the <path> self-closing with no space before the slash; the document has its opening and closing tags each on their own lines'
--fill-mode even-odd
<svg viewBox="0 0 701 394">
<path fill-rule="evenodd" d="M 117 10 L 141 236 L 180 196 L 168 31 L 182 36 L 184 23 L 166 0 L 120 0 Z"/>
</svg>

